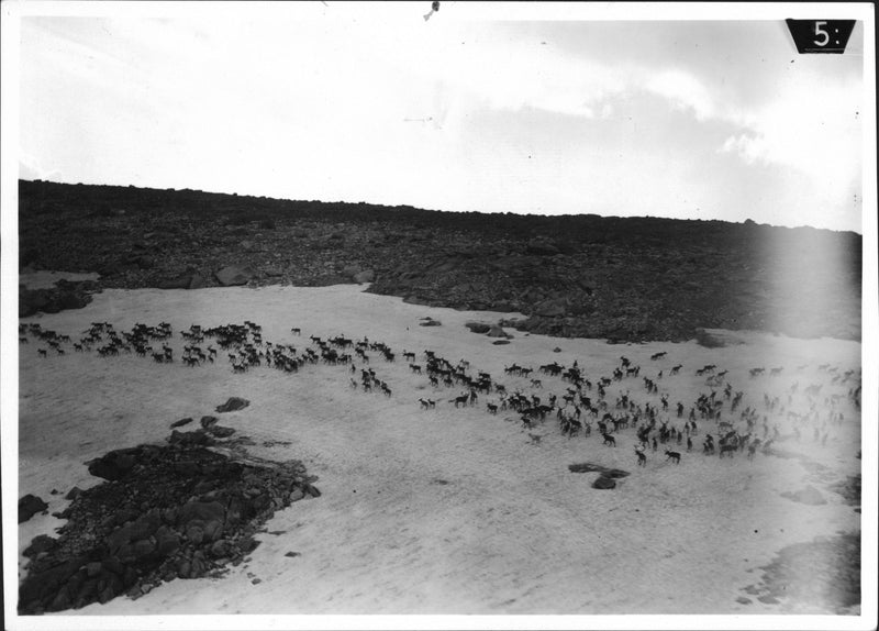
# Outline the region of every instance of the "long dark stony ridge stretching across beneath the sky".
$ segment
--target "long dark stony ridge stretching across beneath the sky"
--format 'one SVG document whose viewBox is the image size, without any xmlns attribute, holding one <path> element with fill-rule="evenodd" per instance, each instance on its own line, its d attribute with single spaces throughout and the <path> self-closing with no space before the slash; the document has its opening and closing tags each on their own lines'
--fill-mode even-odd
<svg viewBox="0 0 879 631">
<path fill-rule="evenodd" d="M 519 311 L 516 329 L 680 341 L 698 328 L 860 339 L 861 236 L 811 228 L 20 181 L 21 265 L 104 287 L 324 286 Z M 226 269 L 232 267 L 232 269 Z"/>
</svg>

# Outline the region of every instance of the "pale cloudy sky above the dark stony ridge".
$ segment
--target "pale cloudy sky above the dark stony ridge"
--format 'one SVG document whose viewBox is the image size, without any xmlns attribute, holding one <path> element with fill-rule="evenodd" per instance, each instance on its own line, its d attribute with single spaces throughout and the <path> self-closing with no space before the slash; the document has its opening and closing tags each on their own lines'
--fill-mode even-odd
<svg viewBox="0 0 879 631">
<path fill-rule="evenodd" d="M 861 231 L 860 24 L 156 4 L 22 19 L 21 177 Z"/>
</svg>

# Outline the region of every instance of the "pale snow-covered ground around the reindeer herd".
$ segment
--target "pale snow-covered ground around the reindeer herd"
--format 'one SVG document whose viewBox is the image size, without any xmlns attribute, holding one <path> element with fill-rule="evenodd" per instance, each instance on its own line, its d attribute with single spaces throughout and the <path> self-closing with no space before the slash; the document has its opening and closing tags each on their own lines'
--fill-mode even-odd
<svg viewBox="0 0 879 631">
<path fill-rule="evenodd" d="M 861 516 L 828 488 L 860 473 L 855 457 L 861 449 L 860 414 L 845 396 L 856 381 L 832 383 L 846 370 L 859 374 L 859 343 L 735 333 L 742 343 L 723 348 L 696 342 L 609 345 L 510 331 L 510 344 L 493 345 L 464 324 L 493 323 L 499 313 L 407 305 L 363 289 L 104 290 L 85 309 L 24 320 L 74 341 L 94 321 L 120 331 L 167 321 L 177 333 L 191 324 L 249 320 L 262 325 L 264 340 L 300 351 L 310 335 L 344 334 L 385 342 L 397 352 L 394 363 L 370 353 L 369 367 L 392 389 L 386 397 L 352 388 L 347 366 L 312 365 L 297 374 L 263 366 L 233 374 L 222 351 L 215 364 L 186 367 L 179 359 L 165 365 L 134 354 L 104 358 L 68 352 L 44 358 L 35 340 L 20 344 L 18 494 L 40 496 L 49 512 L 67 506 L 62 498 L 73 486 L 100 481 L 84 462 L 162 441 L 173 421 L 213 413 L 231 396 L 251 406 L 223 414 L 223 424 L 253 439 L 256 446 L 248 449 L 256 455 L 302 460 L 320 476 L 323 494 L 276 513 L 267 527 L 282 534 L 259 535 L 252 560 L 222 579 L 174 580 L 137 600 L 118 598 L 64 616 L 830 613 L 814 602 L 736 598 L 759 583 L 759 567 L 783 546 L 860 529 Z M 420 326 L 425 317 L 442 326 Z M 301 336 L 292 326 L 301 328 Z M 173 344 L 179 357 L 185 341 L 177 334 Z M 474 375 L 489 373 L 509 391 L 544 401 L 550 392 L 560 399 L 570 384 L 538 375 L 539 365 L 578 361 L 597 381 L 610 377 L 624 355 L 641 374 L 608 388 L 611 411 L 623 391 L 654 406 L 667 394 L 671 408 L 660 419 L 678 428 L 685 419 L 677 418 L 675 403 L 682 401 L 689 411 L 700 392 L 710 392 L 696 370 L 715 364 L 727 370 L 734 391 L 744 391 L 739 409 L 768 414 L 769 427 L 777 423 L 785 439 L 775 446 L 795 457 L 705 456 L 702 438 L 717 431 L 699 420 L 693 452 L 687 453 L 686 444 L 671 447 L 683 452 L 679 466 L 666 461 L 660 446 L 648 450 L 647 466 L 638 467 L 633 429 L 622 430 L 612 449 L 597 431 L 589 438 L 561 435 L 554 417 L 528 430 L 512 410 L 489 414 L 485 403 L 498 402 L 496 394 L 456 408 L 449 399 L 460 387 L 434 388 L 402 357 L 403 351 L 415 352 L 423 365 L 425 350 L 453 363 L 466 359 Z M 664 358 L 650 359 L 663 351 Z M 354 363 L 358 374 L 366 367 L 358 358 Z M 542 388 L 504 374 L 513 363 L 533 367 Z M 669 375 L 677 364 L 683 365 L 680 374 Z M 836 372 L 819 369 L 822 364 Z M 752 378 L 754 367 L 766 374 Z M 771 367 L 783 370 L 771 376 Z M 664 376 L 656 379 L 660 369 Z M 647 392 L 644 376 L 657 381 L 658 394 Z M 788 402 L 794 383 L 799 388 Z M 797 421 L 787 414 L 809 410 L 803 390 L 812 384 L 822 386 L 813 397 L 822 418 L 830 409 L 825 398 L 842 395 L 835 410 L 845 420 L 830 428 L 824 445 L 813 441 L 811 429 L 794 439 Z M 765 394 L 779 397 L 786 412 L 767 410 Z M 591 396 L 597 398 L 594 390 Z M 419 398 L 436 400 L 436 408 L 421 409 Z M 727 402 L 724 420 L 735 419 L 738 412 L 731 414 Z M 267 447 L 267 441 L 290 444 Z M 597 490 L 591 483 L 598 474 L 568 471 L 582 462 L 631 475 L 613 490 Z M 811 463 L 826 469 L 816 475 Z M 781 496 L 806 485 L 827 503 L 808 506 Z M 53 489 L 62 492 L 51 495 Z M 31 539 L 53 534 L 60 523 L 37 514 L 19 527 L 20 568 Z M 290 551 L 299 556 L 285 556 Z"/>
</svg>

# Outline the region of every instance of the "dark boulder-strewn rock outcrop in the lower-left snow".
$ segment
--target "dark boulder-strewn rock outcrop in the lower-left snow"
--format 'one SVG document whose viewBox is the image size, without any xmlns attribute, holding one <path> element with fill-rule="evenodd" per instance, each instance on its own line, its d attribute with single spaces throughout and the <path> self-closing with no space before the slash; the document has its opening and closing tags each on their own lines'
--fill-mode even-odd
<svg viewBox="0 0 879 631">
<path fill-rule="evenodd" d="M 276 510 L 320 496 L 298 461 L 257 461 L 205 430 L 175 431 L 169 443 L 87 463 L 108 481 L 68 494 L 59 536 L 40 535 L 24 551 L 31 562 L 19 613 L 137 598 L 162 582 L 221 574 L 258 545 L 254 534 Z M 218 444 L 225 451 L 211 451 Z"/>
</svg>

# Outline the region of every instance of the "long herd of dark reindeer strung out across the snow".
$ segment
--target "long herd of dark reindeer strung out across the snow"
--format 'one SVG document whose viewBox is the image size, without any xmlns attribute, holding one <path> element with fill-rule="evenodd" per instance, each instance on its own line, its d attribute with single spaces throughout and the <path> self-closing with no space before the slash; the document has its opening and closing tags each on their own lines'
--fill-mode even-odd
<svg viewBox="0 0 879 631">
<path fill-rule="evenodd" d="M 299 328 L 291 328 L 290 334 L 302 340 Z M 219 347 L 236 374 L 262 366 L 288 374 L 315 365 L 344 366 L 352 389 L 388 398 L 393 391 L 387 377 L 380 377 L 376 367 L 394 375 L 401 387 L 404 380 L 400 377 L 401 370 L 390 369 L 398 353 L 368 337 L 355 340 L 336 335 L 323 340 L 311 335 L 307 343 L 272 343 L 264 340 L 262 326 L 251 321 L 212 328 L 191 324 L 178 335 L 183 343 L 180 362 L 188 368 L 215 364 Z M 176 335 L 167 322 L 155 326 L 136 323 L 130 331 L 116 331 L 109 322 L 92 322 L 76 342 L 38 323 L 20 324 L 20 342 L 27 344 L 31 339 L 44 344 L 37 348 L 37 354 L 46 359 L 49 354 L 64 355 L 73 345 L 77 353 L 93 352 L 100 357 L 135 354 L 148 356 L 155 363 L 175 364 L 173 342 Z M 819 366 L 819 370 L 833 374 L 832 386 L 837 390 L 848 386 L 847 395 L 836 391 L 822 398 L 821 384 L 801 388 L 797 381 L 787 389 L 783 400 L 765 394 L 761 407 L 752 405 L 741 409 L 744 391 L 735 389 L 728 370 L 717 370 L 714 364 L 692 373 L 704 378 L 705 391 L 700 388 L 694 400 L 672 403 L 667 386 L 685 378 L 681 375 L 685 365 L 669 362 L 663 369 L 659 363 L 666 361 L 667 352 L 650 355 L 650 367 L 644 369 L 650 376 L 642 375 L 642 366 L 621 356 L 610 376 L 588 375 L 578 361 L 570 366 L 558 362 L 544 364 L 537 367 L 536 374 L 533 367 L 514 363 L 504 366 L 503 383 L 489 373 L 474 370 L 465 359 L 450 362 L 435 351 L 403 350 L 399 355 L 408 366 L 402 373 L 405 380 L 414 379 L 419 389 L 432 391 L 430 397 L 416 400 L 418 409 L 423 412 L 435 410 L 437 405 L 476 409 L 483 397 L 489 416 L 503 413 L 507 420 L 521 423 L 528 432 L 546 425 L 552 418 L 564 436 L 582 440 L 591 436 L 594 424 L 603 446 L 632 445 L 638 466 L 646 466 L 647 452 L 657 453 L 660 445 L 666 462 L 680 464 L 685 460 L 681 452 L 694 451 L 693 439 L 700 440 L 697 436 L 701 438 L 701 454 L 716 455 L 719 460 L 733 460 L 742 453 L 753 461 L 758 452 L 771 454 L 772 445 L 779 441 L 800 441 L 804 434 L 811 434 L 812 441 L 823 446 L 834 428 L 845 421 L 844 403 L 847 401 L 856 410 L 860 409 L 860 372 L 841 372 L 830 364 Z M 805 367 L 799 366 L 795 373 L 802 373 Z M 765 375 L 764 367 L 755 367 L 748 370 L 748 377 L 752 380 L 780 378 L 783 370 L 783 366 L 774 367 Z M 637 390 L 638 385 L 641 394 L 633 395 L 632 387 Z M 560 396 L 550 390 L 559 390 Z M 782 434 L 782 425 L 790 431 Z M 534 444 L 539 444 L 545 434 L 528 435 Z"/>
</svg>

